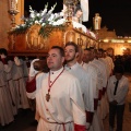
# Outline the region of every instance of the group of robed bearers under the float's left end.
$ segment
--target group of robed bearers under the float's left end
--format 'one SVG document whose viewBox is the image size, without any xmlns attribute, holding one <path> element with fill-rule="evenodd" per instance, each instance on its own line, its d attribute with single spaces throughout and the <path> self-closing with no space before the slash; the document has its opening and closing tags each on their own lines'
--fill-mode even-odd
<svg viewBox="0 0 131 131">
<path fill-rule="evenodd" d="M 26 61 L 19 57 L 10 58 L 4 48 L 0 48 L 0 124 L 14 120 L 19 109 L 29 108 L 26 96 L 28 69 Z"/>
</svg>

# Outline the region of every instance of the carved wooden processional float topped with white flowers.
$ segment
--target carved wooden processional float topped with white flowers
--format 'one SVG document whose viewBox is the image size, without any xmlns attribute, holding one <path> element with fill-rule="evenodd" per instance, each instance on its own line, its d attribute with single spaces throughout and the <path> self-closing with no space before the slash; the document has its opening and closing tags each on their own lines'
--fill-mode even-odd
<svg viewBox="0 0 131 131">
<path fill-rule="evenodd" d="M 32 10 L 32 8 L 29 8 L 32 16 L 33 14 L 43 14 L 39 16 L 41 20 L 39 19 L 38 21 L 35 21 L 33 19 L 31 20 L 31 17 L 28 20 L 25 19 L 25 24 L 15 25 L 15 27 L 13 26 L 11 28 L 9 32 L 8 45 L 10 55 L 46 56 L 52 46 L 56 45 L 64 47 L 68 41 L 74 41 L 75 44 L 82 46 L 82 48 L 91 46 L 95 46 L 97 48 L 97 38 L 86 32 L 82 24 L 72 22 L 73 10 L 78 0 L 63 0 L 63 3 L 67 7 L 67 16 L 64 17 L 64 22 L 63 19 L 60 17 L 61 15 L 58 16 L 59 21 L 56 23 L 52 22 L 52 17 L 57 15 L 56 13 L 52 15 L 55 7 L 47 11 L 48 5 L 46 4 L 44 11 L 37 14 Z M 48 22 L 45 22 L 46 24 L 44 23 L 44 21 L 46 21 L 45 19 L 48 20 Z M 49 19 L 52 20 L 49 21 Z M 58 24 L 61 21 L 63 23 Z"/>
</svg>

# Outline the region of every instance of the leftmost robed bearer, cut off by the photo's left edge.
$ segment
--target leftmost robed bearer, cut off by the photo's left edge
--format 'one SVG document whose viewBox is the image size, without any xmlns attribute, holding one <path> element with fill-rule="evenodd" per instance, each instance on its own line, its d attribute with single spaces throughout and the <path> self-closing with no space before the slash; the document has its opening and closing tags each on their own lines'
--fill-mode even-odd
<svg viewBox="0 0 131 131">
<path fill-rule="evenodd" d="M 0 51 L 3 49 L 0 49 Z M 13 106 L 9 87 L 7 86 L 7 75 L 4 73 L 8 62 L 3 52 L 0 52 L 0 124 L 5 126 L 14 120 Z"/>
</svg>

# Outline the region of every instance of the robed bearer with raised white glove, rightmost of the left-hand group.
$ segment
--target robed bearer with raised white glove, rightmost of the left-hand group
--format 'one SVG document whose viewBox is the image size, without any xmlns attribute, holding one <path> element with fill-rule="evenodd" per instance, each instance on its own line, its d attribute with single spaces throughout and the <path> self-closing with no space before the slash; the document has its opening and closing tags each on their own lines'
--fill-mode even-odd
<svg viewBox="0 0 131 131">
<path fill-rule="evenodd" d="M 26 82 L 24 78 L 23 60 L 14 57 L 14 64 L 12 68 L 12 79 L 16 90 L 16 107 L 22 109 L 29 108 L 28 99 L 26 96 Z"/>
</svg>

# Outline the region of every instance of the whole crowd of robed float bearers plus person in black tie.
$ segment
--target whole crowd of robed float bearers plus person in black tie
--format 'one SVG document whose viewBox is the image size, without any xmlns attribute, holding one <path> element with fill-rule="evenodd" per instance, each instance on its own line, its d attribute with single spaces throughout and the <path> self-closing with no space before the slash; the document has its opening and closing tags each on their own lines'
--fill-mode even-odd
<svg viewBox="0 0 131 131">
<path fill-rule="evenodd" d="M 32 108 L 29 99 L 35 99 L 37 131 L 104 131 L 108 114 L 109 130 L 117 114 L 117 131 L 122 131 L 129 81 L 106 51 L 70 41 L 64 48 L 53 46 L 41 63 L 10 59 L 0 49 L 1 126 L 12 122 L 20 108 Z"/>
</svg>

